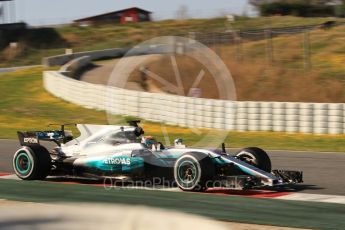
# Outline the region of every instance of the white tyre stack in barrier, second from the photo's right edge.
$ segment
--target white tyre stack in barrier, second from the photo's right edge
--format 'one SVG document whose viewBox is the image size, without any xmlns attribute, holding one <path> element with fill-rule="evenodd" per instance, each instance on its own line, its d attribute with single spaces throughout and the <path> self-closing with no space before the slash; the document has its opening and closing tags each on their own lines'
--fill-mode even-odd
<svg viewBox="0 0 345 230">
<path fill-rule="evenodd" d="M 314 131 L 315 134 L 328 133 L 328 104 L 315 103 L 314 104 Z"/>
</svg>

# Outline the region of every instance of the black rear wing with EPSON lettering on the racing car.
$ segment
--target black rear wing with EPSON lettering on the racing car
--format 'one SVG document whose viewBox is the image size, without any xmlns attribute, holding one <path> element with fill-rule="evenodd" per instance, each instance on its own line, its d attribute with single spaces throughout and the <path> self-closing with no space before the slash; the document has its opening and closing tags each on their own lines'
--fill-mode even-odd
<svg viewBox="0 0 345 230">
<path fill-rule="evenodd" d="M 72 133 L 65 131 L 65 125 L 61 125 L 61 130 L 46 131 L 18 131 L 18 139 L 21 146 L 39 145 L 40 141 L 51 141 L 58 146 L 73 139 Z"/>
</svg>

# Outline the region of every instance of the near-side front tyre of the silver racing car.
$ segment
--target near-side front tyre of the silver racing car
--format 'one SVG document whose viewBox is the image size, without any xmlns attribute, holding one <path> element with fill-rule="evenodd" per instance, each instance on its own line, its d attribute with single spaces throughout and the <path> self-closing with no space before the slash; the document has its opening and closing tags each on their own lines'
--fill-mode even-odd
<svg viewBox="0 0 345 230">
<path fill-rule="evenodd" d="M 174 179 L 183 191 L 205 191 L 212 185 L 215 167 L 204 153 L 190 152 L 183 154 L 174 165 Z"/>
</svg>

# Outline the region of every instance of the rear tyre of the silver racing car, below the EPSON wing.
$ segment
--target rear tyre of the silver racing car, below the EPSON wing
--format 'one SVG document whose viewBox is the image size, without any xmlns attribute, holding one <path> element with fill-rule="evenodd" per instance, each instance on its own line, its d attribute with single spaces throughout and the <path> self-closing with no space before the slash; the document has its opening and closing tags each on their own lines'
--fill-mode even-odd
<svg viewBox="0 0 345 230">
<path fill-rule="evenodd" d="M 43 180 L 51 170 L 51 158 L 43 146 L 23 147 L 13 157 L 13 169 L 23 180 Z"/>
</svg>

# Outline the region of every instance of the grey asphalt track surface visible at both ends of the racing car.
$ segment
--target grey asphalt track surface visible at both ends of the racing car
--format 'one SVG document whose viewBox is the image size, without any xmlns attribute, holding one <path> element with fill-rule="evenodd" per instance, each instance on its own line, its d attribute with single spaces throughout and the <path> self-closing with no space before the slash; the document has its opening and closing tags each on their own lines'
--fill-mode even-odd
<svg viewBox="0 0 345 230">
<path fill-rule="evenodd" d="M 0 140 L 0 172 L 13 173 L 17 140 Z M 235 150 L 233 150 L 235 152 Z M 345 153 L 268 151 L 274 169 L 301 170 L 304 183 L 298 192 L 345 195 Z"/>
</svg>

